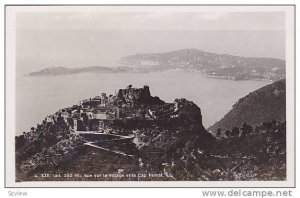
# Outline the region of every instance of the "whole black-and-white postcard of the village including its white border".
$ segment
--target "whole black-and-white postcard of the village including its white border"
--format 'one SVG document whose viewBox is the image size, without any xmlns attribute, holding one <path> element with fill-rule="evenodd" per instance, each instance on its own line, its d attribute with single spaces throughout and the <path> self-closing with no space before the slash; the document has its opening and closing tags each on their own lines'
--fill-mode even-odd
<svg viewBox="0 0 300 198">
<path fill-rule="evenodd" d="M 293 6 L 5 17 L 10 186 L 294 185 Z"/>
</svg>

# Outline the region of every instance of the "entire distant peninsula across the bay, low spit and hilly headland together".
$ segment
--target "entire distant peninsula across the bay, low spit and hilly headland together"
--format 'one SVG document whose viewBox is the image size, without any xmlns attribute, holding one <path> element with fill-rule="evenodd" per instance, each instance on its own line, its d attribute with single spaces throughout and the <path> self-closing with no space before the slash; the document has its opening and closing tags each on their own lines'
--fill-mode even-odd
<svg viewBox="0 0 300 198">
<path fill-rule="evenodd" d="M 136 54 L 123 57 L 120 67 L 91 66 L 80 68 L 49 67 L 27 76 L 54 76 L 79 73 L 149 73 L 181 71 L 198 73 L 208 78 L 228 80 L 268 80 L 285 78 L 285 61 L 216 54 L 198 49 L 182 49 L 166 53 Z"/>
</svg>

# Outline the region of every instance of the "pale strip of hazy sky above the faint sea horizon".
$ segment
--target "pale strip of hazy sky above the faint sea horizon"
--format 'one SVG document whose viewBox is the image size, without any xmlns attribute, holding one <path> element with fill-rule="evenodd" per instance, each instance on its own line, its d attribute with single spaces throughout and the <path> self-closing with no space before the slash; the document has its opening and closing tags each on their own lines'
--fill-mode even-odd
<svg viewBox="0 0 300 198">
<path fill-rule="evenodd" d="M 284 30 L 282 12 L 49 12 L 20 13 L 18 29 Z"/>
</svg>

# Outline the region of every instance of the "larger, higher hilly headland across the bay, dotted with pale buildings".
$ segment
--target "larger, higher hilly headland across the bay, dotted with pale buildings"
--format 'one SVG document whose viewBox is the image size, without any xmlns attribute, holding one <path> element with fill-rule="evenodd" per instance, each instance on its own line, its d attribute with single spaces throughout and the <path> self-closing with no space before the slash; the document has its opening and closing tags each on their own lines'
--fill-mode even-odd
<svg viewBox="0 0 300 198">
<path fill-rule="evenodd" d="M 284 60 L 216 54 L 198 49 L 136 54 L 123 57 L 120 59 L 120 63 L 143 68 L 148 72 L 181 70 L 199 72 L 207 77 L 233 80 L 279 80 L 285 78 Z"/>
</svg>

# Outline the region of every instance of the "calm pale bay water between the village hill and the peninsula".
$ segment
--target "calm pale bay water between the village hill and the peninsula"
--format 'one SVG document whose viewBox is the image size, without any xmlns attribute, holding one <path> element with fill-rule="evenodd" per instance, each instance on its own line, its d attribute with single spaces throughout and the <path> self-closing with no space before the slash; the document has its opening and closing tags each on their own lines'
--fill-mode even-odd
<svg viewBox="0 0 300 198">
<path fill-rule="evenodd" d="M 21 76 L 16 79 L 16 135 L 36 127 L 45 116 L 60 108 L 102 92 L 114 94 L 129 84 L 149 85 L 151 94 L 165 102 L 173 102 L 175 98 L 192 100 L 201 108 L 204 126 L 209 127 L 239 98 L 269 83 L 212 79 L 186 72 Z"/>
</svg>

